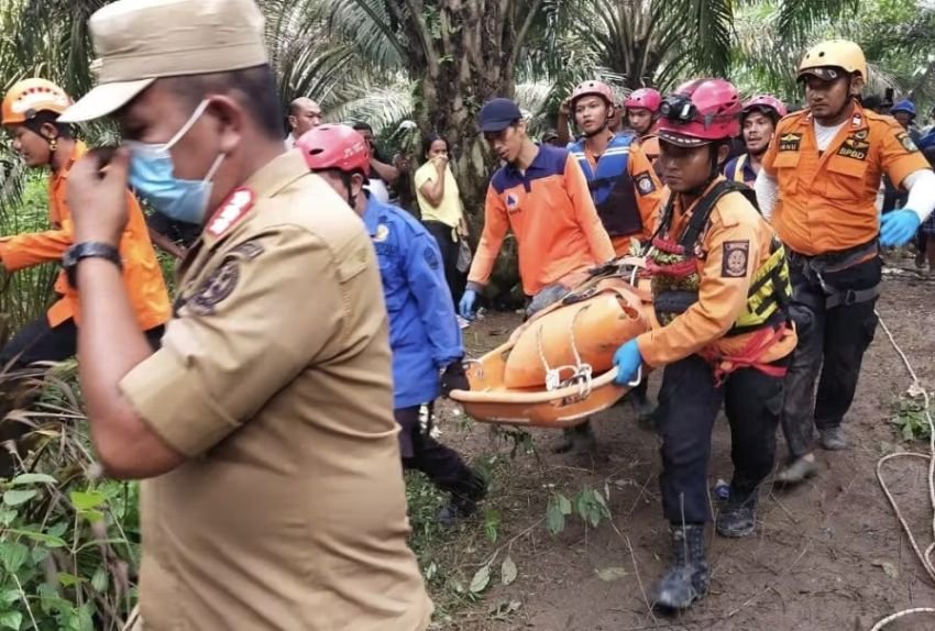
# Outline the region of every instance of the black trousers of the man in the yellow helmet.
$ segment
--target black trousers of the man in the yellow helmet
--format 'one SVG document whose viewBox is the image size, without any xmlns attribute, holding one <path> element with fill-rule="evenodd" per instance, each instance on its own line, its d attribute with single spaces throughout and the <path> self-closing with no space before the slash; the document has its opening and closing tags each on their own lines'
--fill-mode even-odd
<svg viewBox="0 0 935 631">
<path fill-rule="evenodd" d="M 825 307 L 827 295 L 816 278 L 790 263 L 792 319 L 799 344 L 785 377 L 782 431 L 793 458 L 812 451 L 814 427 L 838 427 L 857 391 L 864 353 L 877 331 L 877 299 L 855 305 Z M 879 285 L 879 257 L 824 275 L 838 290 L 861 290 Z M 815 394 L 815 380 L 818 387 Z M 813 427 L 814 425 L 814 427 Z"/>
</svg>

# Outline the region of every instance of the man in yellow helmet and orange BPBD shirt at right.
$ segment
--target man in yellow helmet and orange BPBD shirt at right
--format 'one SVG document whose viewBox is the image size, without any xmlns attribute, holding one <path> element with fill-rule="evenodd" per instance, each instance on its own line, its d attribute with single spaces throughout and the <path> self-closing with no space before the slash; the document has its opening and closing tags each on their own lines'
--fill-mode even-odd
<svg viewBox="0 0 935 631">
<path fill-rule="evenodd" d="M 817 472 L 815 427 L 825 450 L 847 446 L 840 424 L 877 329 L 880 245 L 908 243 L 935 207 L 935 174 L 909 133 L 857 99 L 867 80 L 857 44 L 816 44 L 799 66 L 799 80 L 809 107 L 780 121 L 756 182 L 760 209 L 789 253 L 800 335 L 785 381 L 790 458 L 776 478 L 782 484 Z M 909 199 L 881 219 L 876 201 L 883 175 Z"/>
</svg>

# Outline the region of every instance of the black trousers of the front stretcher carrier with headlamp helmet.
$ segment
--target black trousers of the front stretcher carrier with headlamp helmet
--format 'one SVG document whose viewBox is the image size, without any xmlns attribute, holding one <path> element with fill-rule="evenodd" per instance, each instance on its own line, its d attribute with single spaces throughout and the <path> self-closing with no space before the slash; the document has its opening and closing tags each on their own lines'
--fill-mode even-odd
<svg viewBox="0 0 935 631">
<path fill-rule="evenodd" d="M 783 358 L 774 365 L 785 363 Z M 754 496 L 772 471 L 782 378 L 740 368 L 716 387 L 711 364 L 697 355 L 666 366 L 656 430 L 662 438 L 662 513 L 671 523 L 710 519 L 711 431 L 722 402 L 730 423 L 732 501 Z"/>
</svg>

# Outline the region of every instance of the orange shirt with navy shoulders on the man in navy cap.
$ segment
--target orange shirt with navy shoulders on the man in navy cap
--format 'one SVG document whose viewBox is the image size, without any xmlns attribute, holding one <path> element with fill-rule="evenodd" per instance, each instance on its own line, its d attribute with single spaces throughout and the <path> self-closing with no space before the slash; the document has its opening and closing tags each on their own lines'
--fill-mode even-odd
<svg viewBox="0 0 935 631">
<path fill-rule="evenodd" d="M 525 173 L 506 165 L 494 174 L 469 284 L 487 284 L 508 230 L 516 236 L 527 296 L 614 257 L 587 180 L 563 148 L 540 146 Z"/>
</svg>

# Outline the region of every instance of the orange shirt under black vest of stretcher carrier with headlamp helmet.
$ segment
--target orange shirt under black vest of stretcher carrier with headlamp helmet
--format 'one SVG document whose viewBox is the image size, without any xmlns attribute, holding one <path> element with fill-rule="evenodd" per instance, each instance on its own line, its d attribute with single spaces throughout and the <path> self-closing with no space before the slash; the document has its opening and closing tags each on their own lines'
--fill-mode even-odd
<svg viewBox="0 0 935 631">
<path fill-rule="evenodd" d="M 715 179 L 705 192 L 723 180 L 723 177 Z M 684 209 L 681 198 L 676 198 L 670 229 L 660 236 L 678 241 L 700 199 Z M 698 300 L 667 326 L 653 328 L 637 337 L 644 362 L 659 367 L 702 351 L 713 351 L 723 357 L 743 354 L 761 332 L 725 335 L 744 311 L 750 278 L 771 256 L 772 239 L 769 223 L 746 198 L 738 193 L 722 197 L 712 209 L 695 248 L 701 253 L 696 258 Z M 787 356 L 795 342 L 795 331 L 789 326 L 757 362 L 768 364 Z"/>
</svg>

